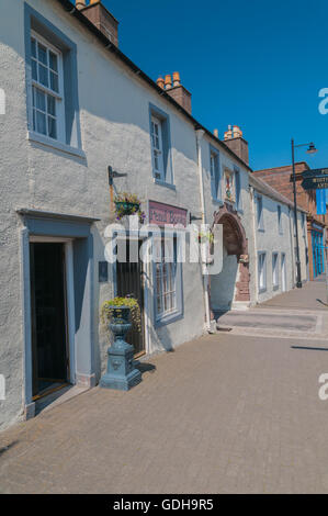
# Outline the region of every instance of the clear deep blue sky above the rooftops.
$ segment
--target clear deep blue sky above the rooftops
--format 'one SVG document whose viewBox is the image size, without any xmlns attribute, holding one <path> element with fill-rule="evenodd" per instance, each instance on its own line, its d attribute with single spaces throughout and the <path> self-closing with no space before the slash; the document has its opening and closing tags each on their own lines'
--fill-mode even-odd
<svg viewBox="0 0 328 516">
<path fill-rule="evenodd" d="M 291 161 L 291 137 L 328 167 L 327 0 L 103 0 L 120 21 L 120 47 L 152 79 L 180 71 L 193 115 L 220 137 L 237 124 L 253 169 Z"/>
</svg>

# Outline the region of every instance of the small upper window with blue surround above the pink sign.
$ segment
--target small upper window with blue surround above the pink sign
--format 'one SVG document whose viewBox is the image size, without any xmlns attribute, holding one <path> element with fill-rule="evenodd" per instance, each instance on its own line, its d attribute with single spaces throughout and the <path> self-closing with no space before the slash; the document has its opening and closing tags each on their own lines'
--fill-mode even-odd
<svg viewBox="0 0 328 516">
<path fill-rule="evenodd" d="M 170 119 L 165 111 L 151 103 L 149 103 L 149 133 L 155 182 L 173 187 Z"/>
</svg>

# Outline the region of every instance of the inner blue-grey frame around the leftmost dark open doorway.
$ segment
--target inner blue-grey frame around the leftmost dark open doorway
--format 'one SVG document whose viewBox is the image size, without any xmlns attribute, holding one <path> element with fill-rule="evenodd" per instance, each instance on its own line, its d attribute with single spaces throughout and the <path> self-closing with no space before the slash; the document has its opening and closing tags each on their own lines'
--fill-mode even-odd
<svg viewBox="0 0 328 516">
<path fill-rule="evenodd" d="M 67 381 L 76 383 L 75 293 L 72 238 L 31 235 L 30 244 L 63 244 L 64 246 L 64 303 L 66 322 Z"/>
</svg>

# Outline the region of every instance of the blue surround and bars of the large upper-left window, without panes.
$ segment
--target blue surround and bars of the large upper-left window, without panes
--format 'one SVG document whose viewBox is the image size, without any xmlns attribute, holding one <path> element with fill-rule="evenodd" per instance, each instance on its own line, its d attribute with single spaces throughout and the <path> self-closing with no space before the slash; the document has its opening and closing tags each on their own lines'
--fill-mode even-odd
<svg viewBox="0 0 328 516">
<path fill-rule="evenodd" d="M 26 65 L 26 99 L 27 99 L 27 126 L 30 139 L 34 139 L 45 145 L 57 147 L 61 150 L 66 150 L 79 156 L 84 156 L 81 147 L 81 132 L 80 132 L 80 120 L 79 120 L 79 96 L 78 96 L 78 65 L 77 65 L 77 45 L 59 29 L 53 25 L 42 14 L 32 9 L 25 3 L 24 7 L 25 16 L 25 65 Z M 47 56 L 39 53 L 35 54 L 35 42 L 39 38 L 41 44 L 44 43 L 44 47 L 47 48 Z M 48 47 L 47 44 L 48 43 Z M 38 48 L 37 48 L 38 49 Z M 56 66 L 54 65 L 54 57 L 52 49 L 61 61 L 61 83 L 63 83 L 63 123 L 61 123 L 61 136 L 57 135 L 50 130 L 47 131 L 35 131 L 37 125 L 34 122 L 35 109 L 39 103 L 35 99 L 35 89 L 41 91 L 44 82 L 43 76 L 39 74 L 35 76 L 35 67 L 38 66 L 41 72 L 44 76 L 47 71 L 49 80 L 56 79 Z M 39 58 L 38 58 L 39 57 Z M 47 67 L 42 66 L 42 58 L 47 61 Z M 53 64 L 52 64 L 53 63 Z M 48 68 L 48 70 L 47 70 Z M 60 75 L 60 74 L 59 74 Z M 53 77 L 54 76 L 54 77 Z M 45 78 L 45 77 L 44 77 Z M 49 85 L 53 85 L 49 82 Z M 52 96 L 56 92 L 56 88 L 49 88 L 45 92 Z M 55 98 L 55 94 L 54 94 Z M 39 99 L 38 99 L 39 100 Z M 49 100 L 49 99 L 48 99 Z M 52 100 L 52 99 L 50 99 Z M 59 104 L 58 104 L 59 105 Z M 38 109 L 38 108 L 37 108 Z M 54 106 L 48 105 L 47 109 L 41 110 L 48 115 L 49 121 L 54 122 Z M 52 120 L 50 120 L 52 119 Z M 59 127 L 59 125 L 58 125 Z M 56 134 L 56 137 L 54 135 Z M 52 137 L 53 135 L 53 137 Z"/>
</svg>

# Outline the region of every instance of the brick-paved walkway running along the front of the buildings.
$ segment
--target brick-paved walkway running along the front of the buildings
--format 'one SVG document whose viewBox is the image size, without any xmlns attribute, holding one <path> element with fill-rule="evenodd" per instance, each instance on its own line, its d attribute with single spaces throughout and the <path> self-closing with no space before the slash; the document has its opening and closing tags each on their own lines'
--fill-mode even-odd
<svg viewBox="0 0 328 516">
<path fill-rule="evenodd" d="M 208 335 L 0 435 L 1 493 L 328 493 L 328 341 Z"/>
</svg>

